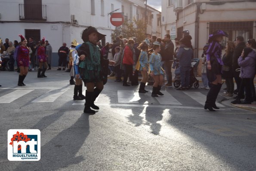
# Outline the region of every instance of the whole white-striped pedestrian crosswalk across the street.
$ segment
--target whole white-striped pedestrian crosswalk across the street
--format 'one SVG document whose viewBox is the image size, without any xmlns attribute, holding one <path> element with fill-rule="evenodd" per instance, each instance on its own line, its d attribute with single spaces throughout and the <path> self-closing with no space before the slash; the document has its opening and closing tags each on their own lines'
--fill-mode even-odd
<svg viewBox="0 0 256 171">
<path fill-rule="evenodd" d="M 40 90 L 40 93 L 36 93 Z M 70 88 L 26 88 L 8 89 L 8 93 L 0 92 L 0 104 L 10 104 L 22 97 L 30 98 L 31 103 L 58 102 L 58 98 L 65 95 L 65 100 L 71 105 L 83 105 L 84 101 L 73 101 L 73 89 Z M 3 95 L 1 95 L 3 94 Z M 85 95 L 85 91 L 83 92 Z M 130 106 L 130 107 L 166 107 L 176 106 L 176 108 L 202 107 L 206 100 L 206 95 L 199 91 L 163 91 L 163 96 L 151 97 L 151 93 L 139 93 L 138 90 L 117 90 L 109 94 L 104 91 L 96 99 L 95 103 L 103 106 Z M 68 98 L 67 98 L 68 97 Z M 100 100 L 99 100 L 100 99 Z M 218 107 L 224 105 L 216 103 Z"/>
</svg>

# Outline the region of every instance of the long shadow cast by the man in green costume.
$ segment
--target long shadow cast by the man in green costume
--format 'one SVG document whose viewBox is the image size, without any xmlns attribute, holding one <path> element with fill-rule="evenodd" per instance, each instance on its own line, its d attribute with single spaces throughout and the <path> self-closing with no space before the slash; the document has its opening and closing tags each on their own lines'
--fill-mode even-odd
<svg viewBox="0 0 256 171">
<path fill-rule="evenodd" d="M 76 156 L 89 135 L 89 115 L 82 114 L 77 122 L 61 131 L 56 137 L 41 147 L 41 159 L 38 162 L 22 162 L 14 171 L 61 170 L 69 165 L 77 165 L 85 160 Z"/>
</svg>

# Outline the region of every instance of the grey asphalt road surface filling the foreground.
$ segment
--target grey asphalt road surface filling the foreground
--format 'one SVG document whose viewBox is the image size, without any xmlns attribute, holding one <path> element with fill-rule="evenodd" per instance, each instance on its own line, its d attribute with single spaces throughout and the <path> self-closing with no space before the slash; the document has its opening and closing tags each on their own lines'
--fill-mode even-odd
<svg viewBox="0 0 256 171">
<path fill-rule="evenodd" d="M 207 90 L 167 88 L 152 98 L 109 79 L 100 110 L 88 115 L 84 101 L 73 101 L 68 73 L 36 74 L 18 87 L 17 73 L 0 73 L 1 171 L 256 171 L 256 113 L 228 101 L 204 110 Z M 40 161 L 7 159 L 9 129 L 41 131 Z"/>
</svg>

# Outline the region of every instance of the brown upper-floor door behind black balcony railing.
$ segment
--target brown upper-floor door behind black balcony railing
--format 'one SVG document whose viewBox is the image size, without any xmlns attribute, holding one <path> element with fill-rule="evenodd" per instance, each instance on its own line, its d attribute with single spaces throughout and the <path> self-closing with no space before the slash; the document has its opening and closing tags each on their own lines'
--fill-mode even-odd
<svg viewBox="0 0 256 171">
<path fill-rule="evenodd" d="M 24 0 L 26 20 L 42 20 L 42 0 Z"/>
</svg>

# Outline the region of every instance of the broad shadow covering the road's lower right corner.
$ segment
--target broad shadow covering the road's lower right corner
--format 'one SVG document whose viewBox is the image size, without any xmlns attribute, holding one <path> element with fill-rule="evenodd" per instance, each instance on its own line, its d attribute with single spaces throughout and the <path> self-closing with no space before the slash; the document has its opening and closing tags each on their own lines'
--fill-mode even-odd
<svg viewBox="0 0 256 171">
<path fill-rule="evenodd" d="M 236 170 L 255 171 L 256 168 L 256 115 L 235 114 L 234 111 L 200 112 L 176 110 L 167 121 L 193 141 L 193 148 L 206 150 Z M 248 120 L 247 117 L 252 120 Z M 200 156 L 198 154 L 194 154 Z M 205 158 L 206 159 L 206 158 Z"/>
</svg>

